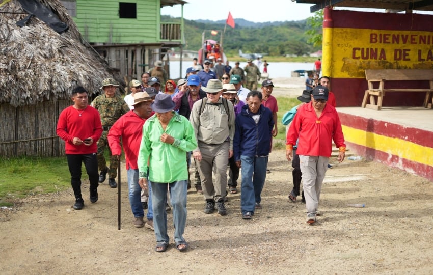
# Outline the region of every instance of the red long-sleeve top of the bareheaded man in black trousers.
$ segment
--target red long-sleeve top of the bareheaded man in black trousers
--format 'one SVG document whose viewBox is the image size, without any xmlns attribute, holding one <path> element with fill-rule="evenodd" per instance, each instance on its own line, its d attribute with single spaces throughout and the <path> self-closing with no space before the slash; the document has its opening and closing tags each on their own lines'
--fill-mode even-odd
<svg viewBox="0 0 433 275">
<path fill-rule="evenodd" d="M 102 134 L 101 118 L 98 110 L 90 105 L 80 111 L 73 106 L 67 107 L 60 113 L 56 133 L 65 141 L 66 154 L 96 153 L 96 142 Z M 78 137 L 80 140 L 92 137 L 93 143 L 90 146 L 85 144 L 74 145 L 72 143 L 74 137 Z"/>
</svg>

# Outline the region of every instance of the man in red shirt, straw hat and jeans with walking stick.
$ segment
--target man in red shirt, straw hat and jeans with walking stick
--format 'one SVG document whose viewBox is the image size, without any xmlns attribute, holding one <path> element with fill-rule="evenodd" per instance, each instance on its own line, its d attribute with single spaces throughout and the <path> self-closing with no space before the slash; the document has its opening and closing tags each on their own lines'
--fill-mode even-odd
<svg viewBox="0 0 433 275">
<path fill-rule="evenodd" d="M 148 87 L 146 90 L 153 88 Z M 132 214 L 135 217 L 134 226 L 146 226 L 153 229 L 153 208 L 151 196 L 149 194 L 149 210 L 147 212 L 146 225 L 143 221 L 144 211 L 141 204 L 141 188 L 139 185 L 139 169 L 137 164 L 140 142 L 143 134 L 143 124 L 154 112 L 150 107 L 153 100 L 146 92 L 134 94 L 133 110 L 121 116 L 111 127 L 108 133 L 108 141 L 113 156 L 120 158 L 122 152 L 120 140 L 122 139 L 123 150 L 125 151 L 126 170 L 128 174 L 129 203 Z M 149 189 L 149 193 L 151 190 Z"/>
</svg>

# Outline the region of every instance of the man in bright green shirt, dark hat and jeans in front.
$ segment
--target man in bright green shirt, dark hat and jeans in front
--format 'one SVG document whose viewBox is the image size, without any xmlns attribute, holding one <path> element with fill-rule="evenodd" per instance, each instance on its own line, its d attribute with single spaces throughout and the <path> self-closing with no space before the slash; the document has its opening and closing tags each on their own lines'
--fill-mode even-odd
<svg viewBox="0 0 433 275">
<path fill-rule="evenodd" d="M 150 184 L 152 189 L 156 252 L 166 251 L 169 245 L 166 212 L 168 186 L 173 206 L 175 247 L 179 251 L 188 247 L 183 238 L 188 179 L 185 154 L 197 147 L 197 141 L 193 126 L 173 111 L 174 106 L 169 94 L 156 95 L 151 104 L 155 115 L 143 125 L 138 156 L 139 184 L 143 189 Z"/>
</svg>

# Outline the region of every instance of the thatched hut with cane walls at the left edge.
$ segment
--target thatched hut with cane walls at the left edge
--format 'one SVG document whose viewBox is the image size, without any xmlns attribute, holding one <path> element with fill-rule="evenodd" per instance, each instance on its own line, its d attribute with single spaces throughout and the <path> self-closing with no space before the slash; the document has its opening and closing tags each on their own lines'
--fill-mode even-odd
<svg viewBox="0 0 433 275">
<path fill-rule="evenodd" d="M 22 0 L 20 0 L 22 1 Z M 39 0 L 67 31 L 57 33 L 28 16 L 17 0 L 0 1 L 0 155 L 61 156 L 64 142 L 56 135 L 60 112 L 72 104 L 76 86 L 102 92 L 104 78 L 123 80 L 80 36 L 58 0 Z"/>
</svg>

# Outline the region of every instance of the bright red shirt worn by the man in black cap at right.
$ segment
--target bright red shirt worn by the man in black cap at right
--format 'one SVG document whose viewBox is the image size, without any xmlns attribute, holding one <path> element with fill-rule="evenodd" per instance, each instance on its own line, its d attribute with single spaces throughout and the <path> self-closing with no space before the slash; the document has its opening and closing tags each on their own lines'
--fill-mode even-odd
<svg viewBox="0 0 433 275">
<path fill-rule="evenodd" d="M 332 140 L 337 147 L 346 147 L 338 113 L 328 103 L 318 119 L 312 102 L 297 110 L 287 132 L 286 144 L 295 145 L 298 137 L 296 154 L 299 155 L 330 157 Z"/>
</svg>

